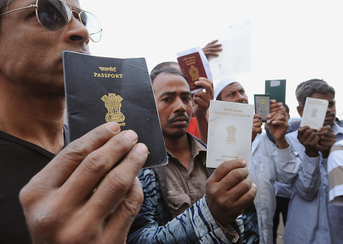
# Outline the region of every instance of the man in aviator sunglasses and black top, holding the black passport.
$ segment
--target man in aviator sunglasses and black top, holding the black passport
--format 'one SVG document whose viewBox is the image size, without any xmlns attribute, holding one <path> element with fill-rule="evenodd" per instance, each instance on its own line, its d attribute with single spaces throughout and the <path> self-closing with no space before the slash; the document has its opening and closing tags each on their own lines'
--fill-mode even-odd
<svg viewBox="0 0 343 244">
<path fill-rule="evenodd" d="M 63 126 L 62 51 L 100 37 L 77 0 L 0 0 L 1 243 L 125 243 L 146 146 L 116 122 L 66 146 Z"/>
</svg>

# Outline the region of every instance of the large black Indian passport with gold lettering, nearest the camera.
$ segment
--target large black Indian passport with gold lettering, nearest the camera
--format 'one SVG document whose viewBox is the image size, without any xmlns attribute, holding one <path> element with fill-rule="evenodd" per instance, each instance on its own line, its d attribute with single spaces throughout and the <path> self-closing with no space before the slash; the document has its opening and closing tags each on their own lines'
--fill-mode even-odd
<svg viewBox="0 0 343 244">
<path fill-rule="evenodd" d="M 148 148 L 144 168 L 167 164 L 144 58 L 116 59 L 63 51 L 70 141 L 110 121 L 133 130 Z"/>
</svg>

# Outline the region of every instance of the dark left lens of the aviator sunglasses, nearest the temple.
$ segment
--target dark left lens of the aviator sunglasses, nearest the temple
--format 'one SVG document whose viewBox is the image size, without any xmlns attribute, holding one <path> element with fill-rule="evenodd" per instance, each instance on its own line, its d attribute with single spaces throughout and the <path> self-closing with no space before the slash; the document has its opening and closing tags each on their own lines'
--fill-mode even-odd
<svg viewBox="0 0 343 244">
<path fill-rule="evenodd" d="M 54 0 L 38 0 L 37 16 L 48 30 L 59 30 L 71 19 L 71 10 L 65 3 Z"/>
</svg>

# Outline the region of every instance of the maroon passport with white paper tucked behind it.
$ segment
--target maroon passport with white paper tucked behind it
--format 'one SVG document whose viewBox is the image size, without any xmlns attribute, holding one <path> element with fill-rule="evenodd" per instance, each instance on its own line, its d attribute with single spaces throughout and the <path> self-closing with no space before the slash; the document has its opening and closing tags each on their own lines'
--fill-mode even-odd
<svg viewBox="0 0 343 244">
<path fill-rule="evenodd" d="M 200 47 L 178 52 L 177 55 L 177 62 L 181 72 L 187 76 L 191 93 L 196 93 L 203 89 L 194 84 L 194 82 L 199 81 L 200 77 L 205 77 L 212 81 L 209 62 Z"/>
</svg>

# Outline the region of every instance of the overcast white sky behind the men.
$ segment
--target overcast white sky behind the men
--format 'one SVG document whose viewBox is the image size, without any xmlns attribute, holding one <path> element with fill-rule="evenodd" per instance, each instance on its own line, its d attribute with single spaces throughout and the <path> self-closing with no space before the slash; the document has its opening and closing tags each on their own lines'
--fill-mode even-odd
<svg viewBox="0 0 343 244">
<path fill-rule="evenodd" d="M 236 75 L 253 103 L 264 81 L 286 79 L 286 103 L 296 112 L 296 86 L 324 79 L 336 90 L 336 116 L 343 118 L 343 1 L 109 1 L 80 0 L 102 26 L 91 53 L 112 58 L 146 59 L 149 72 L 158 63 L 176 61 L 176 52 L 204 47 L 221 29 L 251 17 L 250 72 Z"/>
</svg>

